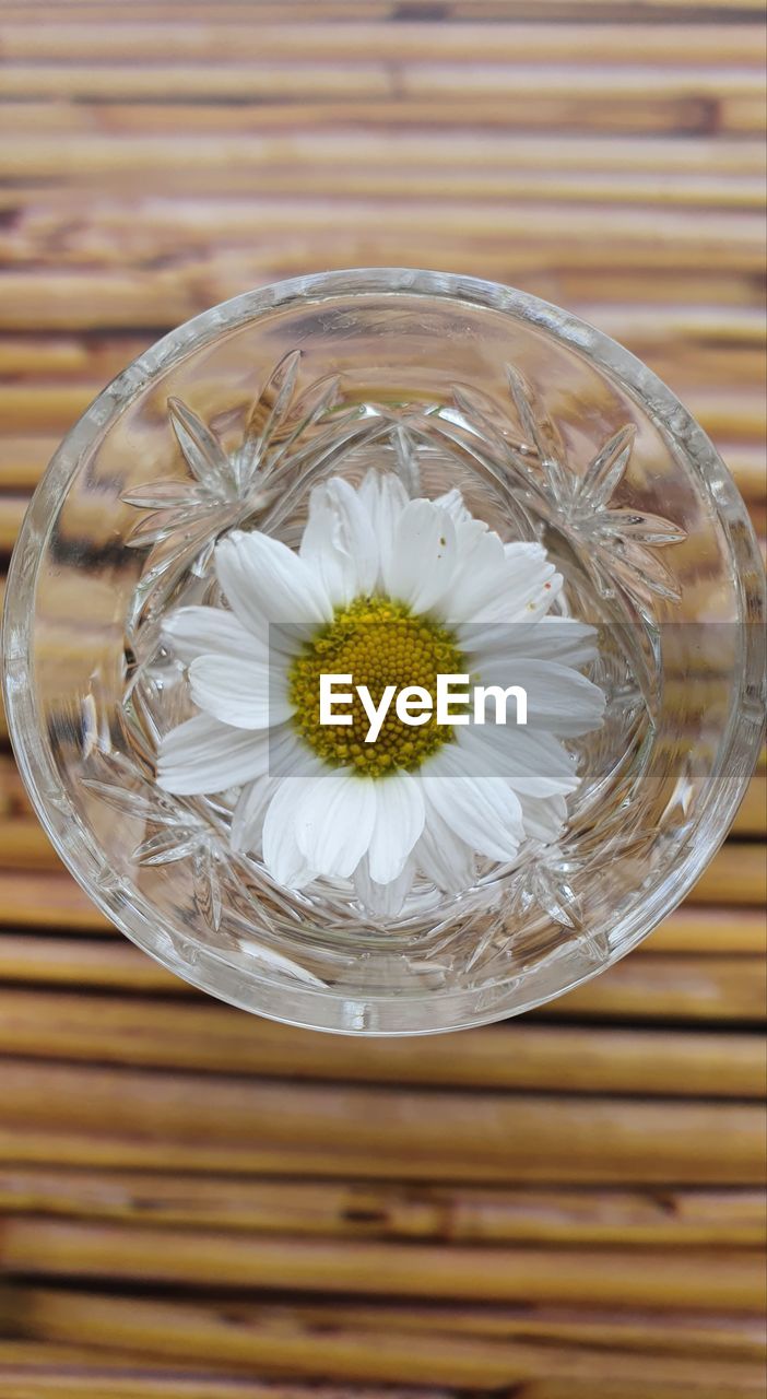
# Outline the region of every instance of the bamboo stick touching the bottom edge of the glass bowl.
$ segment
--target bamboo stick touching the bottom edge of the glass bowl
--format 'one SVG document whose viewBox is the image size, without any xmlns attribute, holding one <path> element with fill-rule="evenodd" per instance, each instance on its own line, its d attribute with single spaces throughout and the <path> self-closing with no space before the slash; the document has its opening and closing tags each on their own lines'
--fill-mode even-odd
<svg viewBox="0 0 767 1399">
<path fill-rule="evenodd" d="M 644 964 L 642 964 L 644 965 Z M 564 1004 L 567 1006 L 567 997 Z M 663 1007 L 659 1010 L 663 1014 Z M 0 1053 L 130 1066 L 446 1087 L 761 1098 L 763 1046 L 749 1035 L 652 1034 L 528 1023 L 451 1039 L 343 1039 L 251 1020 L 216 1004 L 115 1002 L 0 990 Z"/>
</svg>

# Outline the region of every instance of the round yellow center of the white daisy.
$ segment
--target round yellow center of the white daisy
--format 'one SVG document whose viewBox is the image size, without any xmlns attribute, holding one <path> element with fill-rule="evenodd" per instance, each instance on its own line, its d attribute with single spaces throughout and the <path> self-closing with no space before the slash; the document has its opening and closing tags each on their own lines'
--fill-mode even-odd
<svg viewBox="0 0 767 1399">
<path fill-rule="evenodd" d="M 353 688 L 367 686 L 378 705 L 386 686 L 396 690 L 421 686 L 432 704 L 437 676 L 465 673 L 466 665 L 448 628 L 414 616 L 404 603 L 389 597 L 357 597 L 336 611 L 295 658 L 288 672 L 288 693 L 295 706 L 294 723 L 314 751 L 336 767 L 356 767 L 367 776 L 384 776 L 395 768 L 417 768 L 442 743 L 451 741 L 452 725 L 410 726 L 389 706 L 381 733 L 365 743 L 370 718 Z M 321 674 L 350 674 L 353 702 L 343 708 L 351 725 L 321 723 Z"/>
</svg>

